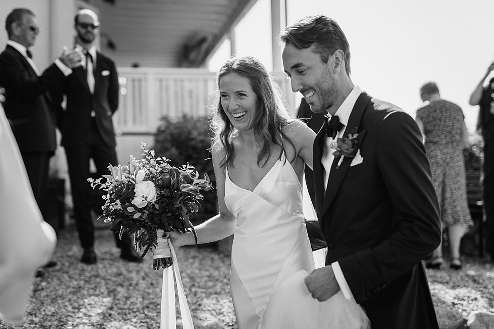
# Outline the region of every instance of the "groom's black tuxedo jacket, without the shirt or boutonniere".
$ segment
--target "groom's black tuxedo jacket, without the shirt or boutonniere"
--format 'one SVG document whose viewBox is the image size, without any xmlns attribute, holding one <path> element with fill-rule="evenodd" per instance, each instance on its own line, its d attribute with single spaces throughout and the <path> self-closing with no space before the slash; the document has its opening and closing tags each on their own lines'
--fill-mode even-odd
<svg viewBox="0 0 494 329">
<path fill-rule="evenodd" d="M 378 108 L 377 110 L 375 108 Z M 439 206 L 415 121 L 362 93 L 344 137 L 357 128 L 363 162 L 333 161 L 326 193 L 314 142 L 316 211 L 328 244 L 372 329 L 438 328 L 421 260 L 441 241 Z"/>
</svg>

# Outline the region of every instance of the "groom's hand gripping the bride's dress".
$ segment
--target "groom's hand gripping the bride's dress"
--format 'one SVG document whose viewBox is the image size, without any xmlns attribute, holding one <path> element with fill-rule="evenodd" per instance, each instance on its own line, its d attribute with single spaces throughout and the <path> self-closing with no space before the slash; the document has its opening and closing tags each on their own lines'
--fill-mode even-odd
<svg viewBox="0 0 494 329">
<path fill-rule="evenodd" d="M 328 300 L 340 290 L 331 265 L 316 268 L 304 281 L 312 297 L 319 301 Z"/>
</svg>

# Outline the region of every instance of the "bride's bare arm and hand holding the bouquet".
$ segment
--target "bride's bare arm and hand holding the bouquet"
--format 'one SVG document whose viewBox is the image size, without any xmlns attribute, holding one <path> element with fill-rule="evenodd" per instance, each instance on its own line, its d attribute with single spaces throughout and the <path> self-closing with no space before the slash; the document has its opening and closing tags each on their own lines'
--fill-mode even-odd
<svg viewBox="0 0 494 329">
<path fill-rule="evenodd" d="M 214 176 L 216 178 L 216 192 L 219 203 L 219 214 L 195 226 L 197 243 L 208 243 L 226 238 L 235 232 L 236 219 L 225 205 L 225 170 L 220 168 L 219 163 L 224 158 L 224 152 L 213 147 L 212 159 Z M 177 234 L 172 232 L 170 239 L 174 248 L 186 245 L 194 245 L 195 240 L 192 232 Z"/>
</svg>

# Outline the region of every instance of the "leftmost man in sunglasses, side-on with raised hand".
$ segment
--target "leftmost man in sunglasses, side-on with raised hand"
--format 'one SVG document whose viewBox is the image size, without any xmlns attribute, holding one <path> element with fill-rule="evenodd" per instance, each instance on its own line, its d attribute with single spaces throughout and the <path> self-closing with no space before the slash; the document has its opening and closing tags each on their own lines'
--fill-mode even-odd
<svg viewBox="0 0 494 329">
<path fill-rule="evenodd" d="M 41 73 L 30 50 L 40 33 L 35 14 L 26 8 L 15 8 L 7 15 L 5 28 L 8 41 L 0 54 L 5 116 L 21 151 L 36 202 L 43 212 L 49 158 L 57 146 L 55 112 L 47 91 L 71 74 L 71 68 L 81 66 L 83 55 L 79 50 L 64 50 Z M 42 272 L 39 273 L 41 276 Z"/>
</svg>

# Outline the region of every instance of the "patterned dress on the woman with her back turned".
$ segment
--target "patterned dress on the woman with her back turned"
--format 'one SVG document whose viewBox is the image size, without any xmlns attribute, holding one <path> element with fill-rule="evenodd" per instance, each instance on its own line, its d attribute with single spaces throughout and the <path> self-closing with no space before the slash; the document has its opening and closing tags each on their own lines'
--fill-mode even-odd
<svg viewBox="0 0 494 329">
<path fill-rule="evenodd" d="M 461 224 L 463 232 L 466 232 L 473 221 L 466 197 L 465 163 L 460 140 L 463 112 L 457 105 L 439 100 L 418 109 L 417 118 L 424 126 L 424 146 L 443 225 Z"/>
</svg>

